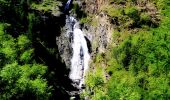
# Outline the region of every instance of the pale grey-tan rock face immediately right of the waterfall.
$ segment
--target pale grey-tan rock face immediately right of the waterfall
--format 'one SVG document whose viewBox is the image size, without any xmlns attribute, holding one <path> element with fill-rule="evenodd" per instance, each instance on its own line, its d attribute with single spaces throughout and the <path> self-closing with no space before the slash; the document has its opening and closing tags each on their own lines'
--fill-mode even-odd
<svg viewBox="0 0 170 100">
<path fill-rule="evenodd" d="M 97 26 L 83 25 L 82 29 L 91 42 L 92 56 L 105 52 L 111 40 L 110 27 L 108 24 L 103 24 L 102 22 L 99 22 Z"/>
</svg>

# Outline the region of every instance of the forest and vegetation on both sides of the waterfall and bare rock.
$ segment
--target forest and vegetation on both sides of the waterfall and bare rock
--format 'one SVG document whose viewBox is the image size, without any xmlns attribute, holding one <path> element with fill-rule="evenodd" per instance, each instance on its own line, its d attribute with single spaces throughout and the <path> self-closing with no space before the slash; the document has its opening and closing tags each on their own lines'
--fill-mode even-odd
<svg viewBox="0 0 170 100">
<path fill-rule="evenodd" d="M 77 99 L 169 100 L 170 1 L 75 1 L 83 2 L 73 0 L 70 8 L 81 25 L 98 27 L 95 18 L 104 13 L 112 27 L 104 52 L 91 42 L 94 55 Z M 0 0 L 0 100 L 71 100 L 77 89 L 56 43 L 66 2 Z"/>
</svg>

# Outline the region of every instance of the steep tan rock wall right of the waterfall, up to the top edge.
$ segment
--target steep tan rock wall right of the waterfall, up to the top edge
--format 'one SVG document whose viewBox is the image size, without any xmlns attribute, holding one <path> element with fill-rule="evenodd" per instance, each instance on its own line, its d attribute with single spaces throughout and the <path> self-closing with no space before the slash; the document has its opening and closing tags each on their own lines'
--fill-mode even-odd
<svg viewBox="0 0 170 100">
<path fill-rule="evenodd" d="M 88 35 L 91 35 L 91 44 L 93 54 L 105 52 L 109 43 L 112 41 L 112 29 L 113 26 L 110 23 L 110 17 L 102 12 L 100 9 L 102 5 L 108 4 L 109 0 L 85 0 L 85 6 L 83 9 L 87 13 L 87 16 L 91 16 L 91 20 L 94 24 L 84 23 L 83 31 Z"/>
</svg>

